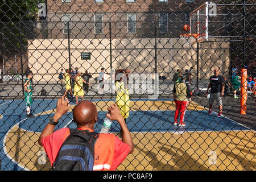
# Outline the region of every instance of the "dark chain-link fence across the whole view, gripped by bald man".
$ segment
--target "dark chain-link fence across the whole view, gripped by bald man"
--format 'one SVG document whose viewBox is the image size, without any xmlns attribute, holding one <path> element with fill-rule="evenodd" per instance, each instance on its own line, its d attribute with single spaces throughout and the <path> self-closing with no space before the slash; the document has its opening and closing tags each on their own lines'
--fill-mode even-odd
<svg viewBox="0 0 256 182">
<path fill-rule="evenodd" d="M 127 127 L 135 151 L 118 170 L 255 170 L 255 90 L 246 86 L 243 97 L 247 81 L 236 92 L 233 86 L 241 69 L 256 77 L 254 1 L 2 1 L 0 15 L 2 170 L 51 169 L 37 140 L 65 93 L 59 76 L 71 68 L 92 84 L 84 92 L 97 106 L 96 131 L 116 101 L 115 71 L 130 70 Z M 110 73 L 102 93 L 101 68 Z M 177 69 L 193 95 L 185 127 L 174 125 Z M 222 117 L 216 102 L 208 115 L 214 69 L 226 77 Z M 33 118 L 24 102 L 28 70 Z M 72 112 L 62 119 L 58 129 L 76 127 Z M 114 122 L 112 133 L 120 136 L 119 130 Z"/>
</svg>

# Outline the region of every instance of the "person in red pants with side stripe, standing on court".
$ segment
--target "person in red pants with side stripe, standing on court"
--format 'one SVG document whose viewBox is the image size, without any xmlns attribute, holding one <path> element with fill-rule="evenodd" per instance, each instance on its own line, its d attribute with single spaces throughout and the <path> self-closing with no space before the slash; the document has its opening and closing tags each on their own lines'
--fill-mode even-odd
<svg viewBox="0 0 256 182">
<path fill-rule="evenodd" d="M 174 85 L 174 101 L 176 104 L 176 110 L 174 115 L 174 125 L 177 125 L 177 118 L 180 115 L 179 126 L 185 126 L 184 115 L 189 104 L 191 104 L 191 91 L 189 86 L 183 82 L 185 76 L 180 73 L 180 81 Z"/>
</svg>

